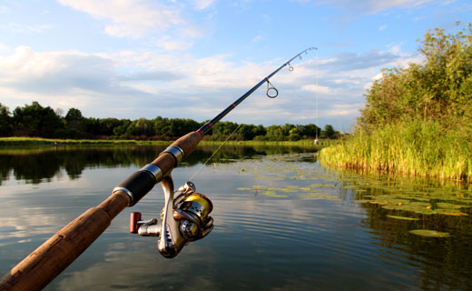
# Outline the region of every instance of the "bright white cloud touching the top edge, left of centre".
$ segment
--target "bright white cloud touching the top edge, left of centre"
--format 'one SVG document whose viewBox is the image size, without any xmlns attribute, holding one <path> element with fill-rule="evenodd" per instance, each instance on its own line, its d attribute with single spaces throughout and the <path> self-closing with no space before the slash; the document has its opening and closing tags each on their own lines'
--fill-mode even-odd
<svg viewBox="0 0 472 291">
<path fill-rule="evenodd" d="M 58 1 L 95 18 L 111 20 L 113 24 L 107 25 L 105 32 L 114 36 L 142 37 L 149 32 L 162 32 L 185 23 L 178 8 L 155 1 Z"/>
</svg>

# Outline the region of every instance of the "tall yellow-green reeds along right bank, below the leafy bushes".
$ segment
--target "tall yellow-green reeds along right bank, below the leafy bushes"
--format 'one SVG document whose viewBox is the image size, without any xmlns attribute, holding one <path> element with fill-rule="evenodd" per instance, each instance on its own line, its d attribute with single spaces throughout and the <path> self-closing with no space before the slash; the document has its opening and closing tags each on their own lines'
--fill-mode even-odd
<svg viewBox="0 0 472 291">
<path fill-rule="evenodd" d="M 333 168 L 472 182 L 471 137 L 447 132 L 433 121 L 359 130 L 323 148 L 319 158 L 321 165 Z"/>
</svg>

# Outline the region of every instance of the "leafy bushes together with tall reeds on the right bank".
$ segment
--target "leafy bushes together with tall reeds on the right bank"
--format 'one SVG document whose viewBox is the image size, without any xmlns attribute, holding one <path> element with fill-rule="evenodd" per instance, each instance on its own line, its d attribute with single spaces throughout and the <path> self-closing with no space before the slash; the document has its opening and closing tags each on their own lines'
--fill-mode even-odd
<svg viewBox="0 0 472 291">
<path fill-rule="evenodd" d="M 472 25 L 428 31 L 424 62 L 383 70 L 348 141 L 322 163 L 472 181 Z"/>
</svg>

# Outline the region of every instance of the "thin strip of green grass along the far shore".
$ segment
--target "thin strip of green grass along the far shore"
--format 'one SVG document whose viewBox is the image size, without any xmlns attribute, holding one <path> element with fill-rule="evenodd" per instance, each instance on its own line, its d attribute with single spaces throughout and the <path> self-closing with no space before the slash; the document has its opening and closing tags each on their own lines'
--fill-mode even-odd
<svg viewBox="0 0 472 291">
<path fill-rule="evenodd" d="M 320 140 L 320 145 L 314 145 L 314 141 L 227 141 L 227 146 L 310 146 L 321 148 L 337 143 L 336 140 Z M 115 140 L 115 139 L 57 139 L 42 137 L 0 137 L 0 146 L 168 146 L 172 141 L 147 141 L 147 140 Z M 223 141 L 202 140 L 201 146 L 220 146 Z"/>
</svg>

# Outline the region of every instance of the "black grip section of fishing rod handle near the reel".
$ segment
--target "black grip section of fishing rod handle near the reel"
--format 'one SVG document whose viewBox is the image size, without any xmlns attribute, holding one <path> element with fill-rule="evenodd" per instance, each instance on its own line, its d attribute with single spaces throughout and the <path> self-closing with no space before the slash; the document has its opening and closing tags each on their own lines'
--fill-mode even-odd
<svg viewBox="0 0 472 291">
<path fill-rule="evenodd" d="M 134 206 L 143 198 L 152 187 L 156 185 L 156 179 L 151 173 L 147 171 L 137 171 L 132 176 L 129 176 L 121 184 L 115 187 L 124 188 L 131 198 L 130 206 Z"/>
</svg>

